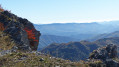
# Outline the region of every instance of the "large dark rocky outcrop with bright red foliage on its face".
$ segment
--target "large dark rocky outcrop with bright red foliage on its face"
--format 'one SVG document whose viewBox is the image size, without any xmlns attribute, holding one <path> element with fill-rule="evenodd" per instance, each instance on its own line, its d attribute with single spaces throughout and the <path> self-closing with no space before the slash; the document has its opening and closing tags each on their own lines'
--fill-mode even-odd
<svg viewBox="0 0 119 67">
<path fill-rule="evenodd" d="M 27 19 L 8 11 L 0 11 L 0 31 L 7 33 L 20 50 L 37 50 L 40 32 Z"/>
</svg>

